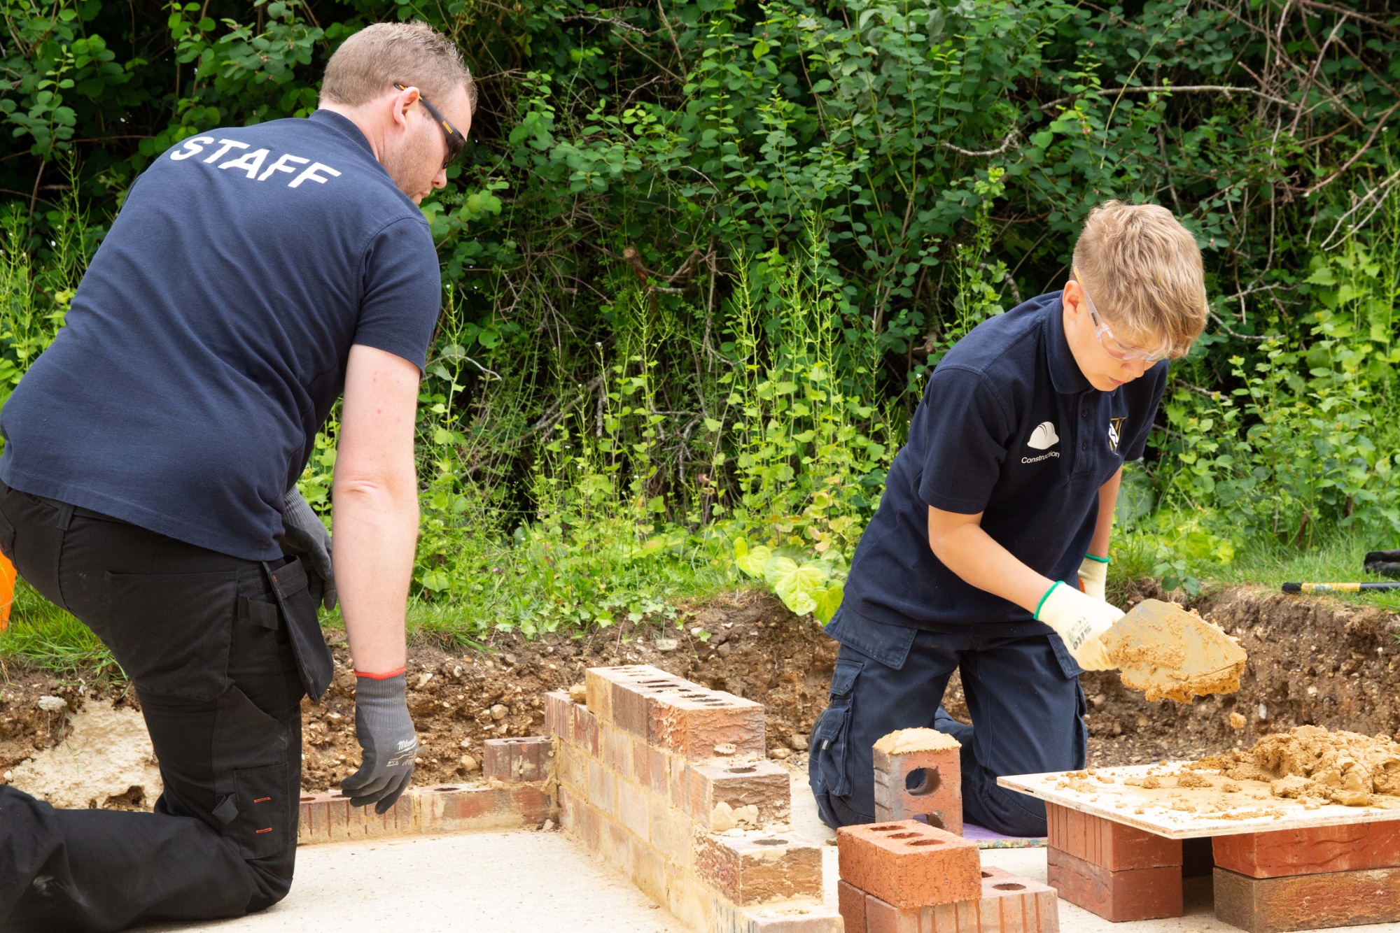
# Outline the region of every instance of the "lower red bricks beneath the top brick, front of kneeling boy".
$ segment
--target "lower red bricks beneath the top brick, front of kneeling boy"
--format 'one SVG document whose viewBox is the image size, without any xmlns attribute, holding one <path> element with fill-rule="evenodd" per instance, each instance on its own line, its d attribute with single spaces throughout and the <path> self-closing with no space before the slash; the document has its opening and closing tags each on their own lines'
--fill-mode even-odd
<svg viewBox="0 0 1400 933">
<path fill-rule="evenodd" d="M 976 899 L 897 908 L 847 881 L 837 881 L 846 933 L 1058 933 L 1053 888 L 995 867 L 981 870 Z"/>
</svg>

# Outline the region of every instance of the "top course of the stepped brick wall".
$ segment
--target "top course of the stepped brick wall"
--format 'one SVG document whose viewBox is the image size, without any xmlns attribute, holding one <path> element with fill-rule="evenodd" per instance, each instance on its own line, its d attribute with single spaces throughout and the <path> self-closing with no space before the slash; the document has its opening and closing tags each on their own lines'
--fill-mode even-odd
<svg viewBox="0 0 1400 933">
<path fill-rule="evenodd" d="M 710 690 L 650 664 L 589 667 L 588 708 L 599 722 L 685 758 L 713 758 L 715 748 L 766 753 L 763 706 Z"/>
</svg>

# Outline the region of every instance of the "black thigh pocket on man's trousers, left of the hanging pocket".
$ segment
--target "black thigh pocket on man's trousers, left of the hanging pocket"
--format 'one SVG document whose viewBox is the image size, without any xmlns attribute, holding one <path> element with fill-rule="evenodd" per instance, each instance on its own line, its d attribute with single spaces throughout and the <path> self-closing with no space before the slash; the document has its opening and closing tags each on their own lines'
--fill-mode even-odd
<svg viewBox="0 0 1400 933">
<path fill-rule="evenodd" d="M 143 691 L 214 699 L 228 687 L 238 574 L 106 574 L 94 631 Z"/>
</svg>

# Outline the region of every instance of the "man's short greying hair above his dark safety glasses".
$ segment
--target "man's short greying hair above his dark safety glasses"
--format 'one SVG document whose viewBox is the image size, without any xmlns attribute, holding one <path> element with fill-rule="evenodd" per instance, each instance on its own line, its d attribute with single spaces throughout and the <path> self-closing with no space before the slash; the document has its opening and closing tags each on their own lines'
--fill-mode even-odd
<svg viewBox="0 0 1400 933">
<path fill-rule="evenodd" d="M 476 111 L 476 83 L 452 41 L 426 22 L 375 22 L 340 43 L 326 63 L 321 99 L 358 106 L 393 91 L 416 87 L 438 106 L 458 85 Z"/>
</svg>

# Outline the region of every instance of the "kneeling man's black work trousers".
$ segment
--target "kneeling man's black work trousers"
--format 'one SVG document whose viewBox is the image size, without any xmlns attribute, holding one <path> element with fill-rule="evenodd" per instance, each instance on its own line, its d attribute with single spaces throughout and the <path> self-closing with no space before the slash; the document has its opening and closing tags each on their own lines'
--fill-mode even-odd
<svg viewBox="0 0 1400 933">
<path fill-rule="evenodd" d="M 0 786 L 0 930 L 239 916 L 286 897 L 304 688 L 269 568 L 4 484 L 0 550 L 116 656 L 165 782 L 154 813 Z"/>
</svg>

